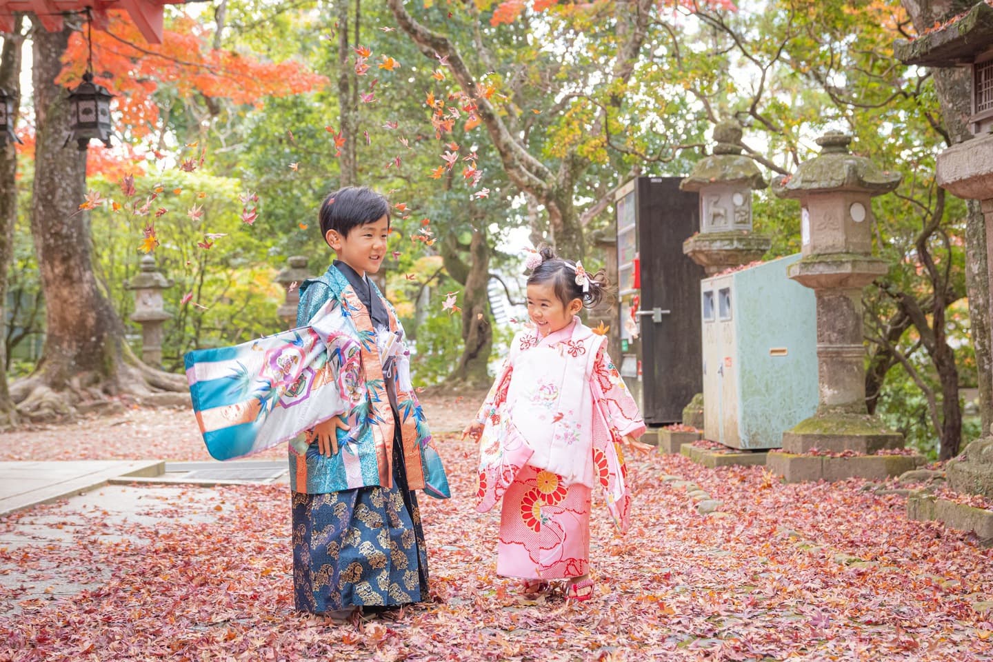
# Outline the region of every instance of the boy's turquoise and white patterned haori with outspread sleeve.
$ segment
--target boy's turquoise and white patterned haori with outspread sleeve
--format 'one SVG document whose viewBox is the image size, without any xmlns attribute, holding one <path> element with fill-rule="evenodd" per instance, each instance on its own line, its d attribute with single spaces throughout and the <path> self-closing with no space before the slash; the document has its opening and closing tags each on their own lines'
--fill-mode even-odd
<svg viewBox="0 0 993 662">
<path fill-rule="evenodd" d="M 368 311 L 334 266 L 307 285 L 328 288 L 307 326 L 186 354 L 193 407 L 211 455 L 241 458 L 343 415 L 351 429 L 339 430 L 334 456 L 290 444 L 291 488 L 321 494 L 391 487 L 392 396 L 408 487 L 447 498 L 448 480 L 410 381 L 410 353 L 395 311 L 373 285 L 389 315 L 389 329 L 374 331 Z"/>
</svg>

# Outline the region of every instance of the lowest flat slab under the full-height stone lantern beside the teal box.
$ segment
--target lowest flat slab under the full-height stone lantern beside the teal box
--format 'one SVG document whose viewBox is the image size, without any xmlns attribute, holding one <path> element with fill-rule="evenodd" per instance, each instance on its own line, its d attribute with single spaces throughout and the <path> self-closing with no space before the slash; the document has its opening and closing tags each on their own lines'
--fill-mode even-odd
<svg viewBox="0 0 993 662">
<path fill-rule="evenodd" d="M 897 476 L 925 463 L 921 455 L 913 456 L 855 456 L 832 458 L 830 456 L 803 456 L 772 451 L 766 466 L 786 482 L 826 480 L 834 482 L 846 478 L 884 480 Z"/>
</svg>

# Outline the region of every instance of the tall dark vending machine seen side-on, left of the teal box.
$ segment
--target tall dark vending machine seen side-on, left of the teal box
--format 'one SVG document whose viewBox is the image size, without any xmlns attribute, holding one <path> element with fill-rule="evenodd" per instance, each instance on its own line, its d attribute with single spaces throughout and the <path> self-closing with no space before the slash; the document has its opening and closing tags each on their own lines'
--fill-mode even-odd
<svg viewBox="0 0 993 662">
<path fill-rule="evenodd" d="M 621 375 L 648 425 L 682 419 L 703 389 L 700 280 L 703 268 L 682 243 L 699 227 L 695 192 L 679 177 L 638 177 L 618 190 L 618 296 Z"/>
</svg>

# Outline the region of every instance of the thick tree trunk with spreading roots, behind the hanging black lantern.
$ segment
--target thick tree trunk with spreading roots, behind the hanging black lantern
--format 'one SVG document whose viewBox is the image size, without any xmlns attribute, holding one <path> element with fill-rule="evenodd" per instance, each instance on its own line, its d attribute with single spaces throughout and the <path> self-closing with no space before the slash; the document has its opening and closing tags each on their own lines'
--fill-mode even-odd
<svg viewBox="0 0 993 662">
<path fill-rule="evenodd" d="M 34 33 L 35 183 L 31 233 L 46 302 L 46 337 L 34 374 L 11 386 L 32 418 L 71 416 L 81 400 L 107 394 L 151 396 L 149 385 L 185 390 L 180 375 L 157 373 L 133 357 L 124 326 L 93 274 L 86 152 L 63 147 L 70 128 L 66 90 L 56 84 L 71 29 Z M 154 398 L 150 398 L 154 400 Z"/>
</svg>

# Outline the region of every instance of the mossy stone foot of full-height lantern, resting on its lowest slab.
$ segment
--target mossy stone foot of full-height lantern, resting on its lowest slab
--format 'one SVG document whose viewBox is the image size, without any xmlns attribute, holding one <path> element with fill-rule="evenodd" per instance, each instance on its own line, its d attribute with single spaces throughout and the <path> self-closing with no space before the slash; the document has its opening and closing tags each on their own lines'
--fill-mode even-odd
<svg viewBox="0 0 993 662">
<path fill-rule="evenodd" d="M 871 456 L 902 448 L 903 435 L 887 430 L 874 416 L 859 414 L 815 414 L 782 433 L 782 451 L 795 455 L 817 449 Z"/>
</svg>

